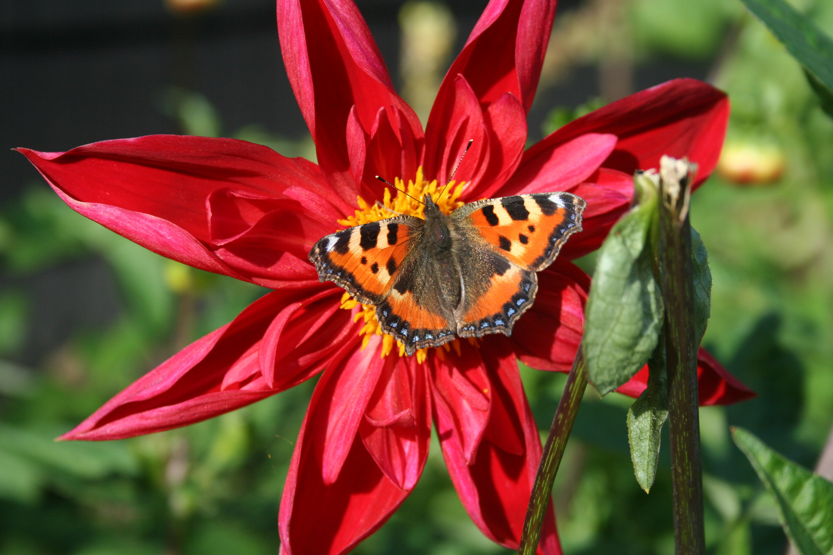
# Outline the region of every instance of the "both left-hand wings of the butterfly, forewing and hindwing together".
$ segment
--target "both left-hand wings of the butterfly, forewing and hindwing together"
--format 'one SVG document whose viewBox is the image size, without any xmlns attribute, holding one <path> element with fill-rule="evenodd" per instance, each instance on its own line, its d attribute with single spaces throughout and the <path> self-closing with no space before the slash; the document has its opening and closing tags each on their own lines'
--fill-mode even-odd
<svg viewBox="0 0 833 555">
<path fill-rule="evenodd" d="M 377 305 L 382 330 L 407 354 L 454 339 L 453 317 L 441 297 L 441 271 L 421 244 L 424 221 L 414 216 L 357 225 L 319 240 L 310 250 L 318 278 L 334 281 L 360 303 Z"/>
</svg>

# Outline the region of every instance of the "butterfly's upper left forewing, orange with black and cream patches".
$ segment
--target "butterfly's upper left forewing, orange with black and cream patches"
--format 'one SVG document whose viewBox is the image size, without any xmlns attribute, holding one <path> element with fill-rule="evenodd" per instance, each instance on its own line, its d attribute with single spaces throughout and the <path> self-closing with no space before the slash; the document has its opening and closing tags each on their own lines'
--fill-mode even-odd
<svg viewBox="0 0 833 555">
<path fill-rule="evenodd" d="M 338 231 L 319 240 L 309 259 L 318 279 L 335 281 L 360 303 L 378 305 L 392 276 L 418 243 L 422 221 L 397 216 Z"/>
</svg>

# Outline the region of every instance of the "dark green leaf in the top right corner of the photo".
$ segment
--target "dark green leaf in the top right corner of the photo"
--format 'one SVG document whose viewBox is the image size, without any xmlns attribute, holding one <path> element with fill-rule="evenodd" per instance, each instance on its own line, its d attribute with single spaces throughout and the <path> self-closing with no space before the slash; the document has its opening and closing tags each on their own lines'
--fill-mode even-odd
<svg viewBox="0 0 833 555">
<path fill-rule="evenodd" d="M 815 79 L 822 105 L 833 98 L 833 39 L 784 0 L 742 0 Z M 820 92 L 821 91 L 821 92 Z M 825 108 L 825 111 L 830 111 Z"/>
</svg>

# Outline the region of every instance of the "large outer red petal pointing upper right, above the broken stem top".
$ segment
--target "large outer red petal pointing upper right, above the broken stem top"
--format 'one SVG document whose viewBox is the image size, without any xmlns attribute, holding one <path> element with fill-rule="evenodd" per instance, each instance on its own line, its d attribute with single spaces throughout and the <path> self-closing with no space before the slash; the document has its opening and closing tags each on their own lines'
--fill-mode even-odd
<svg viewBox="0 0 833 555">
<path fill-rule="evenodd" d="M 728 118 L 725 93 L 695 79 L 675 79 L 561 127 L 526 151 L 524 162 L 585 133 L 612 133 L 619 142 L 603 166 L 632 175 L 637 169 L 659 167 L 662 155 L 687 156 L 699 166 L 699 186 L 717 164 Z"/>
</svg>

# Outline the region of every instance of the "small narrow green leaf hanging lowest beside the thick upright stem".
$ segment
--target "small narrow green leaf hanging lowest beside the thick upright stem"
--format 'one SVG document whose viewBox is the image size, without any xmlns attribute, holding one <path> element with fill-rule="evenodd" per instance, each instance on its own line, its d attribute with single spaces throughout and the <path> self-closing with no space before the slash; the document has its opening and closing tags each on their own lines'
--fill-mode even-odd
<svg viewBox="0 0 833 555">
<path fill-rule="evenodd" d="M 668 380 L 665 345 L 660 342 L 648 360 L 648 387 L 627 411 L 627 438 L 636 481 L 645 493 L 651 491 L 660 459 L 662 424 L 668 418 Z"/>
</svg>

